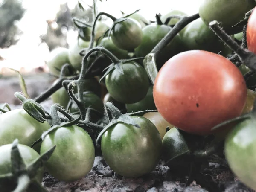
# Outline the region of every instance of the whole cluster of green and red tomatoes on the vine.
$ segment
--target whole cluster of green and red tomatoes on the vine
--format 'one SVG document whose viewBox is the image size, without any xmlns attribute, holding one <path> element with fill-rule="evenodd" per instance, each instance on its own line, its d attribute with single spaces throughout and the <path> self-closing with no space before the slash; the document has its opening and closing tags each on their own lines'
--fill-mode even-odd
<svg viewBox="0 0 256 192">
<path fill-rule="evenodd" d="M 12 164 L 10 144 L 18 139 L 25 164 L 54 148 L 44 168 L 58 180 L 81 179 L 98 154 L 117 174 L 139 177 L 160 158 L 170 169 L 189 169 L 217 153 L 220 147 L 207 151 L 214 145 L 256 189 L 256 67 L 255 59 L 243 59 L 256 50 L 256 11 L 244 19 L 255 6 L 204 0 L 192 16 L 172 10 L 150 22 L 137 11 L 121 18 L 100 12 L 92 28 L 79 21 L 77 41 L 47 61 L 58 76 L 52 87 L 35 100 L 18 95 L 23 109 L 1 109 L 0 162 Z M 39 105 L 49 96 L 50 114 Z M 1 167 L 0 175 L 11 172 Z M 36 178 L 42 179 L 39 169 Z"/>
</svg>

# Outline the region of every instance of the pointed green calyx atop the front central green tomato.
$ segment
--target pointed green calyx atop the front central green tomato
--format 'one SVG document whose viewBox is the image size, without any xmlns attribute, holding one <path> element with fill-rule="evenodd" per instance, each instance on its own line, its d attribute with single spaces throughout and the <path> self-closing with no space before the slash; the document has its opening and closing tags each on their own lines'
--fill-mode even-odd
<svg viewBox="0 0 256 192">
<path fill-rule="evenodd" d="M 99 147 L 100 138 L 106 131 L 108 131 L 109 128 L 111 128 L 112 125 L 115 125 L 121 122 L 127 125 L 133 125 L 137 128 L 140 128 L 140 126 L 134 121 L 134 119 L 131 118 L 131 116 L 141 115 L 147 112 L 157 112 L 156 110 L 146 110 L 146 111 L 138 111 L 135 113 L 122 114 L 121 111 L 119 111 L 119 109 L 115 105 L 113 105 L 112 102 L 106 102 L 105 109 L 107 112 L 108 125 L 106 125 L 104 129 L 102 129 L 102 131 L 99 133 L 96 139 L 96 145 L 98 147 Z"/>
</svg>

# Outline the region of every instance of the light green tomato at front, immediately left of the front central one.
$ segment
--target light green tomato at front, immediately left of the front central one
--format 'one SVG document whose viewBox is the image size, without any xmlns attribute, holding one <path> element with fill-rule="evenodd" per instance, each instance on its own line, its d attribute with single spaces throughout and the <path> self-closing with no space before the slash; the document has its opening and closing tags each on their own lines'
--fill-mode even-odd
<svg viewBox="0 0 256 192">
<path fill-rule="evenodd" d="M 41 154 L 56 145 L 45 163 L 47 172 L 58 180 L 78 180 L 90 172 L 95 158 L 93 140 L 82 128 L 61 127 L 48 134 L 41 145 Z"/>
</svg>

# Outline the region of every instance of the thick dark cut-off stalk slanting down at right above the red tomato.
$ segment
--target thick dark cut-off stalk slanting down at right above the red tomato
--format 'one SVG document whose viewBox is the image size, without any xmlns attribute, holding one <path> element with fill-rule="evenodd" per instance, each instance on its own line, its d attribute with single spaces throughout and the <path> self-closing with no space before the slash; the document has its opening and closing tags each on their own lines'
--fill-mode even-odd
<svg viewBox="0 0 256 192">
<path fill-rule="evenodd" d="M 247 49 L 243 49 L 240 47 L 236 41 L 230 38 L 229 35 L 227 35 L 223 29 L 219 26 L 218 22 L 211 21 L 209 23 L 209 27 L 212 29 L 213 32 L 215 32 L 216 35 L 225 43 L 227 44 L 230 49 L 232 49 L 236 54 L 239 56 L 241 62 L 245 64 L 247 67 L 249 67 L 252 70 L 256 70 L 256 55 L 253 52 L 250 52 Z"/>
</svg>

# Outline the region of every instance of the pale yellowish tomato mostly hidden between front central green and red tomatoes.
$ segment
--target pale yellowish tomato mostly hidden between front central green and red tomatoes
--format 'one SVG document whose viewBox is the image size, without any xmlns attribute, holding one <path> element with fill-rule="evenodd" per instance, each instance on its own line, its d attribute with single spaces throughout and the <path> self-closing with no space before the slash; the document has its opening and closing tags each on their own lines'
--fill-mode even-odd
<svg viewBox="0 0 256 192">
<path fill-rule="evenodd" d="M 143 117 L 147 118 L 152 123 L 154 123 L 154 125 L 156 126 L 157 130 L 160 133 L 162 140 L 166 134 L 166 128 L 169 127 L 171 129 L 174 127 L 172 124 L 163 119 L 163 116 L 161 116 L 159 112 L 148 112 L 145 113 Z"/>
</svg>

